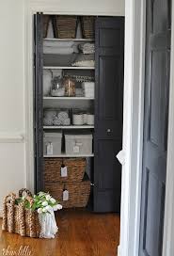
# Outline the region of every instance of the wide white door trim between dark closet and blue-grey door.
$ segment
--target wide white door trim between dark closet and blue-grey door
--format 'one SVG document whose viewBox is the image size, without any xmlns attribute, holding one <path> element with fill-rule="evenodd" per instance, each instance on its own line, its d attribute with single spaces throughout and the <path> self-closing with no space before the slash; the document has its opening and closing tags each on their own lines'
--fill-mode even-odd
<svg viewBox="0 0 174 256">
<path fill-rule="evenodd" d="M 137 256 L 144 120 L 146 6 L 125 1 L 125 75 L 120 245 L 121 256 Z"/>
</svg>

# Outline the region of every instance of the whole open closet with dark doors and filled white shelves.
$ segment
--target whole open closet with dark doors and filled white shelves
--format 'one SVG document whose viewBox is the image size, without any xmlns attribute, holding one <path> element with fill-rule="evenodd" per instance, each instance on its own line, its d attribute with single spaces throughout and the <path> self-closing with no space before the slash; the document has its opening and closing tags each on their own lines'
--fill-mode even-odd
<svg viewBox="0 0 174 256">
<path fill-rule="evenodd" d="M 123 18 L 35 15 L 36 190 L 119 212 Z"/>
</svg>

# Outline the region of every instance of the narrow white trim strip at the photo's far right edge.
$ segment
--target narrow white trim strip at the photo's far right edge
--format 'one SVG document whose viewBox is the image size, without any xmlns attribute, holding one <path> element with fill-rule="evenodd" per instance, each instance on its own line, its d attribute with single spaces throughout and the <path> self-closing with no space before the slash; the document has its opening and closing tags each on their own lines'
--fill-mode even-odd
<svg viewBox="0 0 174 256">
<path fill-rule="evenodd" d="M 172 1 L 170 94 L 168 117 L 168 144 L 166 167 L 166 211 L 164 224 L 163 256 L 174 255 L 174 1 Z"/>
</svg>

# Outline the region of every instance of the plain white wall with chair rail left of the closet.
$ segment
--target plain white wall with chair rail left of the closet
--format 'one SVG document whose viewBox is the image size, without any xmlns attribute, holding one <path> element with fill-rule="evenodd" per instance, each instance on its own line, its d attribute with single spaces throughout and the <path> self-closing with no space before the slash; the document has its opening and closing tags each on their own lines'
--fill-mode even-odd
<svg viewBox="0 0 174 256">
<path fill-rule="evenodd" d="M 24 0 L 0 1 L 0 38 L 1 209 L 3 197 L 25 185 L 24 143 L 9 142 L 24 134 Z"/>
</svg>

